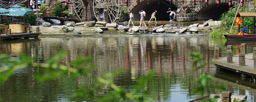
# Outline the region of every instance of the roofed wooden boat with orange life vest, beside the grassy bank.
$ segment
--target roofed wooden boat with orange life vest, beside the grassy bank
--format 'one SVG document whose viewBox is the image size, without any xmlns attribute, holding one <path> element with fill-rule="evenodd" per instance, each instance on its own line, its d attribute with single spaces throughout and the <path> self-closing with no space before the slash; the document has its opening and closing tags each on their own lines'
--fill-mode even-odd
<svg viewBox="0 0 256 102">
<path fill-rule="evenodd" d="M 236 17 L 242 17 L 242 22 L 243 22 L 243 25 L 242 27 L 238 27 L 238 33 L 240 33 L 240 28 L 244 28 L 244 17 L 253 17 L 253 24 L 255 24 L 255 17 L 256 17 L 256 12 L 238 12 L 236 13 Z M 248 28 L 248 27 L 246 27 Z M 250 28 L 250 29 L 254 29 L 253 30 L 253 34 L 246 34 L 242 31 L 242 33 L 240 34 L 224 34 L 225 38 L 227 40 L 254 40 L 256 41 L 256 27 L 254 25 L 253 28 Z"/>
</svg>

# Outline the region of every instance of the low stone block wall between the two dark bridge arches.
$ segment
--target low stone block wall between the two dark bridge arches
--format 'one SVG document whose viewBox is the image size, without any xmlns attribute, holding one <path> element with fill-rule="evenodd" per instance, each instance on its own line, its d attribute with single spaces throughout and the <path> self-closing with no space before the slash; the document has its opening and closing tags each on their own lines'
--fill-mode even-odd
<svg viewBox="0 0 256 102">
<path fill-rule="evenodd" d="M 196 13 L 178 14 L 177 21 L 179 22 L 192 22 L 198 21 Z"/>
</svg>

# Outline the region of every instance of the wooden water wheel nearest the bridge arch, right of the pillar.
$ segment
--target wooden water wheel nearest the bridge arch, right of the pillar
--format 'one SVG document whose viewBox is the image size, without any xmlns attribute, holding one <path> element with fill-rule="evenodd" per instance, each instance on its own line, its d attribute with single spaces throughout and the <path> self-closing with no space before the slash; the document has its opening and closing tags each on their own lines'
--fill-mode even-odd
<svg viewBox="0 0 256 102">
<path fill-rule="evenodd" d="M 93 12 L 98 21 L 116 23 L 121 16 L 122 0 L 93 0 Z"/>
</svg>

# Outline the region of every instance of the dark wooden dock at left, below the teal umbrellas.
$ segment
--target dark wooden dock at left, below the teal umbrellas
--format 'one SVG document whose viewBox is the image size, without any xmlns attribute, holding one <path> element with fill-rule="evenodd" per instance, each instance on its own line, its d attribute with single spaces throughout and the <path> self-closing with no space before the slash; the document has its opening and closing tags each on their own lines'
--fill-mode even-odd
<svg viewBox="0 0 256 102">
<path fill-rule="evenodd" d="M 37 38 L 40 33 L 18 33 L 18 34 L 10 34 L 10 35 L 0 35 L 0 41 L 4 40 L 14 40 L 14 39 L 29 39 L 29 38 Z"/>
</svg>

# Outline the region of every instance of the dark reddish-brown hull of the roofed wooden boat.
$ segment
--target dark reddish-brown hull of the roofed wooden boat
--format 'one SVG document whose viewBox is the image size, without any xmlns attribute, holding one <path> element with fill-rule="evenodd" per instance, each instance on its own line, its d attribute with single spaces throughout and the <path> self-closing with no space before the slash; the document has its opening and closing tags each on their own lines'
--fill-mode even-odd
<svg viewBox="0 0 256 102">
<path fill-rule="evenodd" d="M 234 41 L 234 40 L 255 40 L 256 41 L 256 35 L 250 34 L 250 35 L 235 35 L 235 34 L 224 34 L 225 38 L 228 41 Z"/>
</svg>

